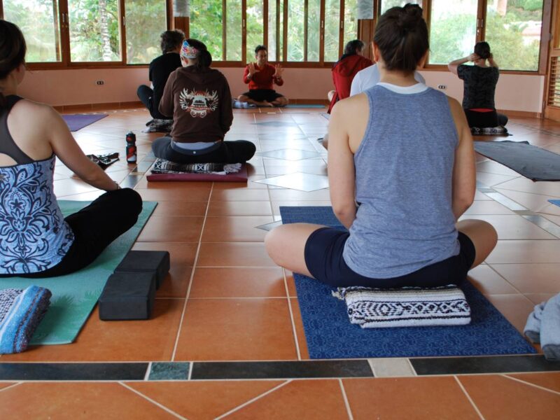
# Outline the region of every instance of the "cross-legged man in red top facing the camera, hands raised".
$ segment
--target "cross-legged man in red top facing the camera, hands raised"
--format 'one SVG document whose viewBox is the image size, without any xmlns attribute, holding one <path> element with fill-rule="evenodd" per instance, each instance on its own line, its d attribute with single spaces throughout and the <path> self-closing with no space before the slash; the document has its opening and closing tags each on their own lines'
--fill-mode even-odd
<svg viewBox="0 0 560 420">
<path fill-rule="evenodd" d="M 249 90 L 237 97 L 239 102 L 248 102 L 256 106 L 286 106 L 288 98 L 279 94 L 272 87 L 274 84 L 283 85 L 283 69 L 280 64 L 273 66 L 268 63 L 267 48 L 257 45 L 255 59 L 257 62 L 249 63 L 243 73 L 243 82 L 248 83 Z"/>
</svg>

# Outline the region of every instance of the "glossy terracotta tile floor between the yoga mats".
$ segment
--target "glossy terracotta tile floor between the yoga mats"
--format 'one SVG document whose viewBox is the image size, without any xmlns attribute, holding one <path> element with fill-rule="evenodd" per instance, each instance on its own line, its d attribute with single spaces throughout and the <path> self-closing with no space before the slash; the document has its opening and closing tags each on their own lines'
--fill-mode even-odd
<svg viewBox="0 0 560 420">
<path fill-rule="evenodd" d="M 324 110 L 236 111 L 228 139 L 249 139 L 260 152 L 296 149 L 318 153 L 302 160 L 256 155 L 250 162 L 247 185 L 148 183 L 150 143 L 159 134 L 140 132 L 150 119 L 146 111 L 112 112 L 76 132 L 87 153 L 124 152 L 125 133 L 130 129 L 137 132 L 139 166 L 135 169 L 121 160 L 107 172 L 123 185 L 133 183 L 144 200 L 160 202 L 134 248 L 169 250 L 172 269 L 158 290 L 151 321 L 103 322 L 94 311 L 76 343 L 36 347 L 17 356 L 1 356 L 0 361 L 309 358 L 291 273 L 268 258 L 262 244 L 265 231 L 255 227 L 278 220 L 280 205 L 328 205 L 328 190 L 306 193 L 255 181 L 294 172 L 326 173 L 326 153 L 316 142 L 328 123 L 321 112 Z M 511 118 L 508 129 L 514 134 L 510 139 L 560 152 L 560 123 Z M 547 202 L 560 197 L 560 183 L 533 183 L 482 156 L 477 156 L 477 162 L 479 188 L 493 188 L 501 197 L 560 225 L 560 208 Z M 55 174 L 60 199 L 92 200 L 99 195 L 74 179 L 60 162 Z M 470 272 L 470 279 L 521 329 L 535 303 L 560 292 L 560 239 L 481 191 L 475 200 L 465 217 L 494 223 L 500 240 L 486 264 Z M 560 409 L 559 375 L 6 381 L 0 383 L 0 418 L 552 418 Z"/>
</svg>

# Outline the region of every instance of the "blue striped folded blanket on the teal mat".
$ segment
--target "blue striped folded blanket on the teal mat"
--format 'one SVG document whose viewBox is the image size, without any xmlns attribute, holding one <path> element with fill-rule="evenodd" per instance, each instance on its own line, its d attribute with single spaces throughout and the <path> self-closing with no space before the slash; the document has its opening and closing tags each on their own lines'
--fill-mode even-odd
<svg viewBox="0 0 560 420">
<path fill-rule="evenodd" d="M 0 290 L 0 354 L 27 349 L 47 311 L 50 296 L 50 290 L 38 286 Z"/>
</svg>

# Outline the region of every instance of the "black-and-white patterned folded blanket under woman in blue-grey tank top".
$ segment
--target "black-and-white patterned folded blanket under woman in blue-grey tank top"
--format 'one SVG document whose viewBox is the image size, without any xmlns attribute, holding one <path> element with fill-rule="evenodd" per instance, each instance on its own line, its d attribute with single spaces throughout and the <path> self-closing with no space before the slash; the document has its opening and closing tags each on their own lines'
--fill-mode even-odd
<svg viewBox="0 0 560 420">
<path fill-rule="evenodd" d="M 361 328 L 465 325 L 470 307 L 454 284 L 438 288 L 338 288 L 332 295 L 346 302 L 351 323 Z"/>
</svg>

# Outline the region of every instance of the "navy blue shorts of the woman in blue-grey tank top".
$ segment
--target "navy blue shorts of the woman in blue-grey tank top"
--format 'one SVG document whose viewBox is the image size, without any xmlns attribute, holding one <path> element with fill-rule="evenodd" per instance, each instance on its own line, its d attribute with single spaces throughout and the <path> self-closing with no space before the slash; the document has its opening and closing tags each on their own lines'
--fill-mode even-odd
<svg viewBox="0 0 560 420">
<path fill-rule="evenodd" d="M 342 257 L 349 232 L 321 228 L 311 233 L 305 244 L 305 264 L 311 275 L 331 287 L 364 286 L 398 288 L 405 286 L 437 287 L 462 283 L 475 261 L 475 245 L 458 232 L 461 251 L 447 260 L 435 262 L 415 272 L 390 279 L 372 279 L 354 272 Z"/>
</svg>

